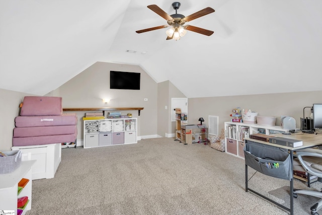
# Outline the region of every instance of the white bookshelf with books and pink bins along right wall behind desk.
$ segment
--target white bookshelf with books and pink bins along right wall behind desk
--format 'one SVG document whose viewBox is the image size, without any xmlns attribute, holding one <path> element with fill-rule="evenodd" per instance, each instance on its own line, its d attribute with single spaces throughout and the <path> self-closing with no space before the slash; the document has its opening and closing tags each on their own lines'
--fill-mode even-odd
<svg viewBox="0 0 322 215">
<path fill-rule="evenodd" d="M 287 132 L 281 126 L 265 126 L 258 124 L 247 124 L 241 122 L 225 122 L 225 152 L 245 158 L 244 156 L 244 138 L 249 137 L 251 134 L 263 133 L 272 135 L 275 133 Z"/>
</svg>

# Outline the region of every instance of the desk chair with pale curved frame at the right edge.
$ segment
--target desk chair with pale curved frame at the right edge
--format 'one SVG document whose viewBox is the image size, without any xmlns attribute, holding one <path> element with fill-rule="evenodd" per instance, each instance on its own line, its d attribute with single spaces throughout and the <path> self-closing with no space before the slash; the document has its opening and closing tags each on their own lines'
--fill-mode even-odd
<svg viewBox="0 0 322 215">
<path fill-rule="evenodd" d="M 303 170 L 310 175 L 315 175 L 319 179 L 322 178 L 322 150 L 319 149 L 303 149 L 296 152 L 293 168 L 296 169 L 297 161 Z M 322 208 L 322 192 L 313 190 L 296 190 L 294 189 L 294 197 L 297 194 L 304 194 L 321 198 L 313 206 L 311 206 L 311 214 L 318 215 L 317 211 Z"/>
</svg>

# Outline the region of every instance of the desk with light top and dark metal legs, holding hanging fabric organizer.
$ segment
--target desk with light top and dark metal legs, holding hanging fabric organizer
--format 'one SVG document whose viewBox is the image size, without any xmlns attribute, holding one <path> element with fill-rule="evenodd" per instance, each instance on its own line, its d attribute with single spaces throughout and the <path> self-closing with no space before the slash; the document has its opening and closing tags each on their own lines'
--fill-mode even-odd
<svg viewBox="0 0 322 215">
<path fill-rule="evenodd" d="M 290 138 L 290 139 L 298 139 L 298 140 L 302 140 L 303 141 L 303 146 L 300 147 L 296 147 L 296 148 L 292 148 L 292 147 L 286 147 L 286 146 L 282 146 L 282 145 L 278 145 L 278 144 L 271 144 L 270 142 L 266 142 L 266 141 L 261 141 L 261 140 L 257 140 L 257 139 L 251 139 L 251 138 L 245 138 L 245 143 L 247 144 L 249 143 L 253 143 L 253 144 L 258 144 L 258 145 L 268 145 L 271 147 L 275 147 L 275 148 L 279 148 L 279 149 L 285 149 L 289 152 L 290 156 L 290 162 L 291 162 L 291 174 L 293 174 L 293 153 L 296 150 L 300 150 L 300 149 L 305 149 L 305 148 L 311 148 L 311 147 L 315 147 L 315 146 L 319 146 L 322 145 L 322 137 L 319 134 L 308 134 L 308 133 L 292 133 L 291 135 L 285 135 L 285 134 L 276 134 L 275 136 L 281 136 L 281 137 L 285 137 L 285 138 Z M 246 165 L 246 164 L 245 164 Z M 246 184 L 246 192 L 248 192 L 249 190 L 256 193 L 257 195 L 271 201 L 272 203 L 282 207 L 285 210 L 290 211 L 290 214 L 293 215 L 294 214 L 294 210 L 293 210 L 293 177 L 291 177 L 290 179 L 290 208 L 285 207 L 284 205 L 281 205 L 280 203 L 256 192 L 253 189 L 250 189 L 248 187 L 248 165 L 246 165 L 246 169 L 245 169 L 245 184 Z"/>
</svg>

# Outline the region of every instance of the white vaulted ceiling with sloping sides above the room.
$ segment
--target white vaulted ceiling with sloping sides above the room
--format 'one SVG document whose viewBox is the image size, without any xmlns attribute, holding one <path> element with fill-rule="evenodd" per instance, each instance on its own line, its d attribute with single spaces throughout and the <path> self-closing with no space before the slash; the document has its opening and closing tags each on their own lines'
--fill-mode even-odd
<svg viewBox="0 0 322 215">
<path fill-rule="evenodd" d="M 186 0 L 179 14 L 216 11 L 188 23 L 213 35 L 135 33 L 167 24 L 146 6 L 171 15 L 173 2 L 1 0 L 0 88 L 44 95 L 104 61 L 140 65 L 188 98 L 322 90 L 322 1 Z"/>
</svg>

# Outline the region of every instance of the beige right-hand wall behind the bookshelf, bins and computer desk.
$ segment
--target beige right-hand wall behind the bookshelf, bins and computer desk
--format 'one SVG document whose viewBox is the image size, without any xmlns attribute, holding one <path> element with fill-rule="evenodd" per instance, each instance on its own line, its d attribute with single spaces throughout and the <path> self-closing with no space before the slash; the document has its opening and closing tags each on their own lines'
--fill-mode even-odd
<svg viewBox="0 0 322 215">
<path fill-rule="evenodd" d="M 313 103 L 322 103 L 322 91 L 278 93 L 248 96 L 190 98 L 188 99 L 188 123 L 198 123 L 199 117 L 208 124 L 208 115 L 219 116 L 219 132 L 225 121 L 230 121 L 231 110 L 236 107 L 251 109 L 262 116 L 275 116 L 276 125 L 281 124 L 280 116 L 288 115 L 296 120 L 296 127 L 300 127 L 300 117 L 303 108 Z M 305 117 L 309 116 L 309 108 L 305 109 Z M 308 111 L 308 112 L 307 112 Z"/>
</svg>

